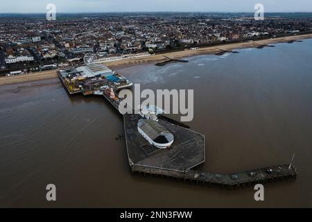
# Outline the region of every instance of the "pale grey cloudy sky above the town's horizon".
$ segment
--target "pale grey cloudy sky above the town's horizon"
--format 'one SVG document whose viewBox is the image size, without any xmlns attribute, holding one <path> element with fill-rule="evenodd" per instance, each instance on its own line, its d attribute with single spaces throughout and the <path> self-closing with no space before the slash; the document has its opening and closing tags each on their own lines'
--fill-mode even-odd
<svg viewBox="0 0 312 222">
<path fill-rule="evenodd" d="M 312 0 L 1 0 L 1 12 L 46 12 L 55 3 L 58 12 L 254 12 L 263 3 L 266 12 L 312 12 Z"/>
</svg>

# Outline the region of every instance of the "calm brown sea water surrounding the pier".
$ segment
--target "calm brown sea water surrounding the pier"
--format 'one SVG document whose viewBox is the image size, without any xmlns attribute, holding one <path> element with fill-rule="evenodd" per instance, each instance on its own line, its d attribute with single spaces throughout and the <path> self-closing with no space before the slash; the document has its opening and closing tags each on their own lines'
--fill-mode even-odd
<svg viewBox="0 0 312 222">
<path fill-rule="evenodd" d="M 206 135 L 205 170 L 291 161 L 297 180 L 228 191 L 133 176 L 122 117 L 60 80 L 0 87 L 0 207 L 312 207 L 312 40 L 118 70 L 149 89 L 194 89 L 189 125 Z M 177 117 L 174 117 L 177 118 Z M 46 201 L 46 185 L 57 201 Z"/>
</svg>

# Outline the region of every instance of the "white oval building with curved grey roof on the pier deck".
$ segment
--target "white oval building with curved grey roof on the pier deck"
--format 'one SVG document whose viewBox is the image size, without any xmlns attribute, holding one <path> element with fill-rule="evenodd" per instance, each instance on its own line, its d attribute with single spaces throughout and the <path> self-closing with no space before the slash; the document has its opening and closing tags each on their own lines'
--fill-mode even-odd
<svg viewBox="0 0 312 222">
<path fill-rule="evenodd" d="M 139 133 L 157 148 L 169 148 L 173 144 L 174 136 L 164 126 L 150 119 L 140 119 L 137 123 Z"/>
</svg>

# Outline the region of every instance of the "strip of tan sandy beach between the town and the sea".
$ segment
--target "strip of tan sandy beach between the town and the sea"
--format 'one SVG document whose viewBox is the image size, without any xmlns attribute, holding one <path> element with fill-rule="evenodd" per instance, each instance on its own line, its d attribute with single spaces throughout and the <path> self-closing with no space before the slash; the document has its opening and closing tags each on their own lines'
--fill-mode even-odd
<svg viewBox="0 0 312 222">
<path fill-rule="evenodd" d="M 112 62 L 103 62 L 104 65 L 109 67 L 110 69 L 121 69 L 125 67 L 132 67 L 135 65 L 146 65 L 153 62 L 163 62 L 166 60 L 164 56 L 168 56 L 173 59 L 181 59 L 187 58 L 192 56 L 202 56 L 202 55 L 209 55 L 218 53 L 220 50 L 225 51 L 232 51 L 234 49 L 246 49 L 246 48 L 255 48 L 259 46 L 259 44 L 276 44 L 281 42 L 288 42 L 291 40 L 304 40 L 312 38 L 312 34 L 305 34 L 305 35 L 292 35 L 287 37 L 277 37 L 274 39 L 268 40 L 257 40 L 253 42 L 239 42 L 239 43 L 232 43 L 232 44 L 220 44 L 218 46 L 207 46 L 205 48 L 200 48 L 196 50 L 186 50 L 186 51 L 175 51 L 169 53 L 162 53 L 153 56 L 146 56 L 144 58 L 129 58 L 125 60 L 118 60 Z M 218 49 L 217 49 L 218 48 Z M 48 71 L 40 71 L 33 74 L 24 74 L 21 76 L 3 76 L 0 77 L 0 86 L 1 85 L 13 85 L 17 83 L 28 83 L 28 82 L 35 82 L 39 80 L 47 80 L 51 78 L 58 78 L 56 74 L 57 70 L 48 70 Z"/>
</svg>

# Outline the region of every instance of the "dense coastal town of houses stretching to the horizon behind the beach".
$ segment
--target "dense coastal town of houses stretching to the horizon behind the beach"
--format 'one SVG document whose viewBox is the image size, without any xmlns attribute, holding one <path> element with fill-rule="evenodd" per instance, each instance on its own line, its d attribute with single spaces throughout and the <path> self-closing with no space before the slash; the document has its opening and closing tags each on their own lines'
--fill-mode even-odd
<svg viewBox="0 0 312 222">
<path fill-rule="evenodd" d="M 309 13 L 105 13 L 0 19 L 0 76 L 312 33 Z"/>
</svg>

